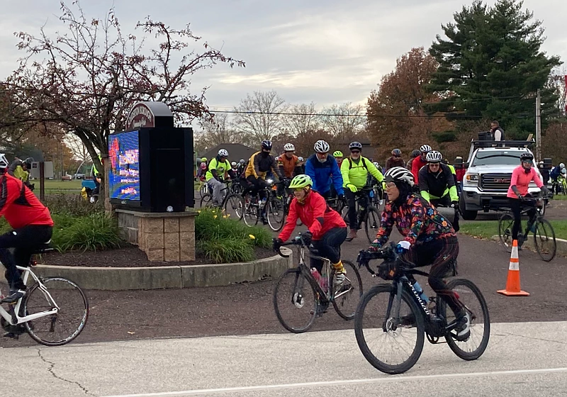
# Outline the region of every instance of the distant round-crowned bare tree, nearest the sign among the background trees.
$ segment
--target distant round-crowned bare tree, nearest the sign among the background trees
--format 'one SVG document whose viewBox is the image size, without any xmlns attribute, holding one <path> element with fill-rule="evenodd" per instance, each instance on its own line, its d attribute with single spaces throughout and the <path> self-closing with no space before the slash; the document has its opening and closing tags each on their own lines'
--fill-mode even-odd
<svg viewBox="0 0 567 397">
<path fill-rule="evenodd" d="M 283 128 L 281 113 L 286 110 L 286 101 L 276 91 L 254 91 L 235 107 L 235 112 L 239 112 L 235 123 L 256 141 L 271 139 Z"/>
</svg>

